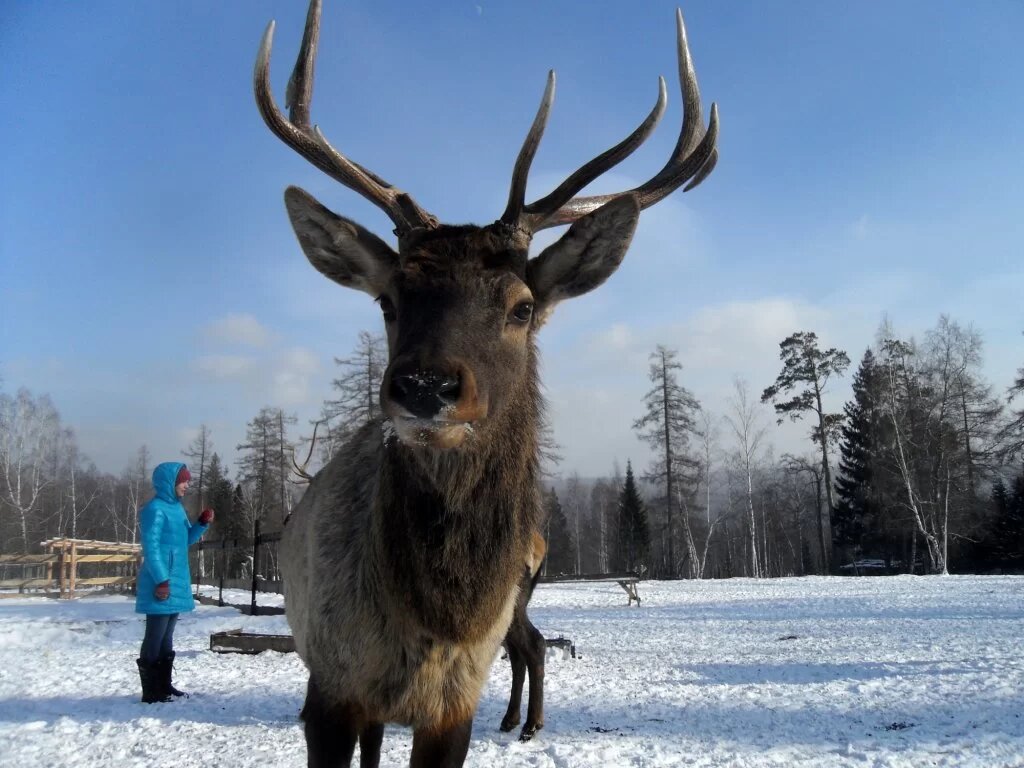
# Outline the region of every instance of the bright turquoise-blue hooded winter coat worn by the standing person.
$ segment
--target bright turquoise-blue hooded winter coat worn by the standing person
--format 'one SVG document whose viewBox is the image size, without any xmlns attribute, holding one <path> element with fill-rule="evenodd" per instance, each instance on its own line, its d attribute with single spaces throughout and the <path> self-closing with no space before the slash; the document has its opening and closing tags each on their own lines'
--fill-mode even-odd
<svg viewBox="0 0 1024 768">
<path fill-rule="evenodd" d="M 139 510 L 142 565 L 135 594 L 136 613 L 182 613 L 194 610 L 188 547 L 206 532 L 207 525 L 188 522 L 185 508 L 174 494 L 174 480 L 184 464 L 166 462 L 153 470 L 157 495 Z M 153 594 L 161 582 L 170 580 L 171 596 L 158 600 Z"/>
</svg>

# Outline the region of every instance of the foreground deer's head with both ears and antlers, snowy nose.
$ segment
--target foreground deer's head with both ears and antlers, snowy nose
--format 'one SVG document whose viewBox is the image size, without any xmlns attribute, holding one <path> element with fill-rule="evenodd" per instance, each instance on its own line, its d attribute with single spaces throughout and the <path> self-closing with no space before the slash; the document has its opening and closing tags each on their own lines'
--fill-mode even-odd
<svg viewBox="0 0 1024 768">
<path fill-rule="evenodd" d="M 380 304 L 390 350 L 381 406 L 402 442 L 434 449 L 472 444 L 485 439 L 495 424 L 514 418 L 517 407 L 537 401 L 534 334 L 552 308 L 597 288 L 617 268 L 642 209 L 683 184 L 693 188 L 711 173 L 718 158 L 717 109 L 712 104 L 705 129 L 683 17 L 677 11 L 684 119 L 660 171 L 624 193 L 575 197 L 632 154 L 657 125 L 666 104 L 662 78 L 654 108 L 632 134 L 550 195 L 527 204 L 529 166 L 554 99 L 551 72 L 515 163 L 505 212 L 485 226 L 442 224 L 408 194 L 342 155 L 310 124 L 319 15 L 321 0 L 311 0 L 288 84 L 287 118 L 270 95 L 273 22 L 269 24 L 256 59 L 256 103 L 286 144 L 388 214 L 398 249 L 294 186 L 285 193 L 292 226 L 316 269 Z M 529 257 L 535 232 L 564 224 L 570 226 L 560 240 Z"/>
</svg>

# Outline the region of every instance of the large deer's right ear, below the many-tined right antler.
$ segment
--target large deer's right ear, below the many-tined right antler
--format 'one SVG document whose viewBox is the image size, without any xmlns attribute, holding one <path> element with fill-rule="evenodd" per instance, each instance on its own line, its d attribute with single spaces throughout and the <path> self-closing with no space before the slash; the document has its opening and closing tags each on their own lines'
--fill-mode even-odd
<svg viewBox="0 0 1024 768">
<path fill-rule="evenodd" d="M 618 268 L 640 218 L 633 195 L 614 198 L 578 219 L 526 265 L 526 284 L 542 317 L 563 299 L 592 291 Z"/>
</svg>

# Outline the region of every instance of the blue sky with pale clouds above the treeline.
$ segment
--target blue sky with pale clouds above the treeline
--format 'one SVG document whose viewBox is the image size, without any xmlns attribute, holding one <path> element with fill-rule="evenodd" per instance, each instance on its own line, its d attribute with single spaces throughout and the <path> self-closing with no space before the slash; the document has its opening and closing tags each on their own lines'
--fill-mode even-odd
<svg viewBox="0 0 1024 768">
<path fill-rule="evenodd" d="M 675 7 L 326 0 L 313 121 L 440 218 L 485 223 L 549 69 L 530 198 L 631 131 L 664 75 L 659 129 L 592 190 L 628 188 L 678 131 Z M 646 211 L 618 272 L 542 331 L 563 470 L 646 463 L 630 425 L 657 343 L 721 412 L 734 376 L 754 394 L 772 382 L 793 331 L 857 360 L 884 314 L 921 335 L 947 312 L 983 334 L 1004 390 L 1024 364 L 1024 5 L 683 12 L 721 160 Z M 301 185 L 382 237 L 390 222 L 281 144 L 253 101 L 266 23 L 283 101 L 304 15 L 284 0 L 0 10 L 2 386 L 49 393 L 102 469 L 143 443 L 177 458 L 204 422 L 232 459 L 260 407 L 312 417 L 333 357 L 378 330 L 365 295 L 308 265 L 282 191 Z M 775 441 L 799 449 L 794 434 Z"/>
</svg>

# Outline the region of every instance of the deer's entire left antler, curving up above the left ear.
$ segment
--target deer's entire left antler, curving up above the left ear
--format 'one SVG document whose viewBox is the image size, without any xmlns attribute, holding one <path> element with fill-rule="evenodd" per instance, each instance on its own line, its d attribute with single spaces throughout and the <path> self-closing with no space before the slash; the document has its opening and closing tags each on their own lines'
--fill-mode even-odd
<svg viewBox="0 0 1024 768">
<path fill-rule="evenodd" d="M 267 25 L 253 71 L 256 106 L 263 121 L 274 135 L 299 155 L 387 213 L 398 234 L 417 227 L 436 227 L 437 219 L 420 208 L 408 194 L 346 158 L 324 138 L 318 128 L 310 125 L 309 108 L 312 102 L 319 18 L 321 0 L 310 0 L 302 45 L 285 95 L 285 103 L 289 109 L 288 118 L 278 109 L 270 93 L 270 49 L 273 45 L 274 23 Z"/>
</svg>

